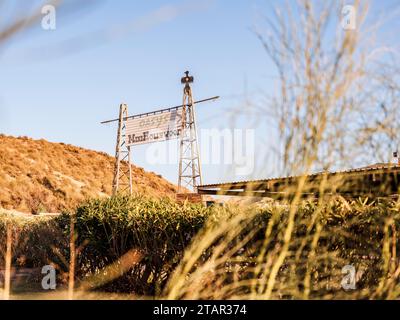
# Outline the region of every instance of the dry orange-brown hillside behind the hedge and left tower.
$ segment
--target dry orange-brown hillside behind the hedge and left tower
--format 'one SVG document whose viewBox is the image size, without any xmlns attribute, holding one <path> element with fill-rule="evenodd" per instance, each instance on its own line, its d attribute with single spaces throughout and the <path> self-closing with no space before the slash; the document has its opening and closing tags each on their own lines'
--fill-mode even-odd
<svg viewBox="0 0 400 320">
<path fill-rule="evenodd" d="M 34 214 L 73 209 L 111 194 L 113 168 L 114 158 L 104 152 L 0 135 L 0 208 Z M 175 195 L 177 187 L 160 175 L 132 169 L 135 192 Z"/>
</svg>

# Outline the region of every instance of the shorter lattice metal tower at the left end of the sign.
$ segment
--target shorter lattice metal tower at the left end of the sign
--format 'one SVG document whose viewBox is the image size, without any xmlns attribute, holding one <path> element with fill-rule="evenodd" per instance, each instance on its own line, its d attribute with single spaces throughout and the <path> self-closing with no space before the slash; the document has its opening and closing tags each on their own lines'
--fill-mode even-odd
<svg viewBox="0 0 400 320">
<path fill-rule="evenodd" d="M 121 104 L 119 108 L 117 145 L 115 148 L 115 166 L 113 179 L 113 195 L 117 193 L 132 194 L 131 147 L 126 146 L 126 119 L 128 106 Z"/>
</svg>

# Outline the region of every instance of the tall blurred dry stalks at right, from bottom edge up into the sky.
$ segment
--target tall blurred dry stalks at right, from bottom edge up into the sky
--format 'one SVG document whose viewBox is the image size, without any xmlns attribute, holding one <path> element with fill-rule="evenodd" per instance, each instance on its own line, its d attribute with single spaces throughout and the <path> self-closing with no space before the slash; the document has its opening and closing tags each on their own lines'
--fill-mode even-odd
<svg viewBox="0 0 400 320">
<path fill-rule="evenodd" d="M 294 196 L 283 201 L 286 209 L 276 217 L 272 214 L 267 226 L 260 227 L 255 216 L 243 210 L 232 221 L 206 228 L 171 278 L 168 298 L 397 297 L 398 274 L 391 263 L 399 264 L 395 250 L 398 243 L 393 240 L 396 228 L 389 227 L 392 219 L 398 224 L 397 202 L 385 207 L 378 201 L 374 209 L 368 199 L 361 208 L 357 201 L 340 197 L 331 202 L 332 195 L 325 196 L 327 185 L 323 180 L 313 186 L 319 200 L 310 199 L 312 214 L 305 214 L 302 208 L 301 199 L 310 189 L 307 174 L 352 167 L 360 160 L 388 162 L 390 148 L 396 146 L 398 138 L 392 134 L 399 123 L 398 99 L 393 98 L 400 93 L 398 78 L 387 68 L 382 69 L 384 57 L 372 55 L 374 46 L 369 41 L 379 21 L 366 25 L 368 3 L 355 1 L 357 28 L 345 30 L 340 24 L 342 17 L 336 16 L 341 5 L 335 1 L 299 1 L 293 7 L 277 8 L 274 19 L 267 21 L 268 31 L 257 31 L 276 66 L 280 92 L 270 103 L 245 112 L 259 111 L 255 117 L 268 115 L 266 120 L 273 123 L 268 129 L 276 129 L 280 137 L 277 149 L 282 174 L 302 177 L 284 190 Z M 336 34 L 332 35 L 329 27 Z M 369 144 L 378 138 L 380 143 Z M 367 146 L 370 148 L 365 153 Z M 339 177 L 329 181 L 328 187 L 334 190 L 343 183 Z M 377 216 L 362 216 L 370 210 Z M 332 227 L 331 220 L 338 218 L 344 220 Z M 357 234 L 363 232 L 358 224 L 366 221 L 376 224 L 368 228 L 371 237 L 379 235 L 375 239 L 378 248 L 369 247 L 370 238 Z M 232 255 L 235 237 L 230 235 L 242 234 L 243 241 L 251 238 L 246 228 L 249 225 L 252 232 L 264 232 L 265 238 L 260 246 L 251 247 L 254 251 L 239 251 L 243 246 Z M 359 247 L 352 248 L 352 243 Z M 346 250 L 339 249 L 341 246 Z M 358 256 L 353 256 L 355 253 Z M 238 260 L 246 261 L 246 267 Z M 340 290 L 341 268 L 351 264 L 360 270 L 366 266 L 373 269 L 359 270 L 357 275 L 364 274 L 362 281 L 369 281 L 369 288 Z"/>
</svg>

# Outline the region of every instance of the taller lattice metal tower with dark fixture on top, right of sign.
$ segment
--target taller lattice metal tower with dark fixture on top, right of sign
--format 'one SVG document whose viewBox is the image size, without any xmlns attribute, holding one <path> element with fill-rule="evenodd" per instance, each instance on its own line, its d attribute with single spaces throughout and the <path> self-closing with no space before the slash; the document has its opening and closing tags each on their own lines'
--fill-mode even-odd
<svg viewBox="0 0 400 320">
<path fill-rule="evenodd" d="M 202 184 L 196 115 L 192 88 L 190 87 L 190 83 L 193 83 L 193 80 L 193 77 L 189 76 L 189 71 L 186 71 L 185 76 L 181 79 L 181 83 L 185 86 L 183 88 L 182 131 L 180 138 L 179 193 L 182 193 L 183 188 L 192 189 L 196 192 L 197 186 Z"/>
</svg>

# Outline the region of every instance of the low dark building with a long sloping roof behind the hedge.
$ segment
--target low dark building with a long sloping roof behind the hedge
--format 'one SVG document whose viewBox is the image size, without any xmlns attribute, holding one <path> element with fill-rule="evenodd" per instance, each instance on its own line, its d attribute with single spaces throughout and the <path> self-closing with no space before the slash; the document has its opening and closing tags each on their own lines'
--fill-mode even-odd
<svg viewBox="0 0 400 320">
<path fill-rule="evenodd" d="M 300 183 L 304 185 L 300 188 Z M 277 200 L 323 195 L 355 197 L 397 197 L 400 189 L 400 165 L 382 164 L 339 172 L 319 172 L 264 180 L 208 184 L 198 187 L 203 195 L 269 197 Z"/>
</svg>

